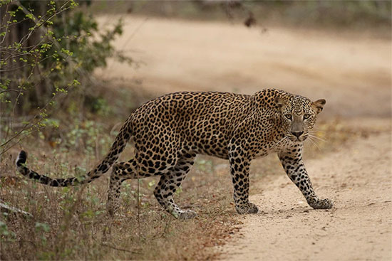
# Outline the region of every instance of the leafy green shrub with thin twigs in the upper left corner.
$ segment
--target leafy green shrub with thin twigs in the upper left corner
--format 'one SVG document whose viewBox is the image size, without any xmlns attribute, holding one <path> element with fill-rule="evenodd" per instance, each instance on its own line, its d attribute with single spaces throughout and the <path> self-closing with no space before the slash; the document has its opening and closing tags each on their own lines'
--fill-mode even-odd
<svg viewBox="0 0 392 261">
<path fill-rule="evenodd" d="M 81 1 L 89 5 L 90 1 Z M 26 135 L 47 127 L 48 114 L 85 102 L 91 73 L 107 58 L 130 62 L 113 48 L 122 33 L 118 21 L 98 30 L 91 14 L 68 1 L 1 1 L 0 156 Z M 108 113 L 105 100 L 94 98 L 93 112 Z M 29 116 L 28 120 L 16 117 Z"/>
</svg>

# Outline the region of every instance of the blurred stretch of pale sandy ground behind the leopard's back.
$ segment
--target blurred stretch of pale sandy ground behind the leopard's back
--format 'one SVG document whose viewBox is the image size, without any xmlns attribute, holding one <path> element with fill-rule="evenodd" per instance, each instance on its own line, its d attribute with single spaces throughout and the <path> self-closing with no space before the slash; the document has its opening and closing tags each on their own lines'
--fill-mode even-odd
<svg viewBox="0 0 392 261">
<path fill-rule="evenodd" d="M 118 17 L 102 17 L 101 24 Z M 110 62 L 100 77 L 181 90 L 252 94 L 266 87 L 325 98 L 326 114 L 391 116 L 391 39 L 366 33 L 126 16 L 115 46 L 138 68 Z"/>
</svg>

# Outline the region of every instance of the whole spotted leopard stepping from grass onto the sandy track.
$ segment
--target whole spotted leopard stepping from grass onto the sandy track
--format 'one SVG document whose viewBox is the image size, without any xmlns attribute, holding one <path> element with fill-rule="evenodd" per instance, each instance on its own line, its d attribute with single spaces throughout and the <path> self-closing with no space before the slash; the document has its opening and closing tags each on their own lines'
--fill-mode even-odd
<svg viewBox="0 0 392 261">
<path fill-rule="evenodd" d="M 64 187 L 90 183 L 110 168 L 108 214 L 120 207 L 120 188 L 128 179 L 160 176 L 153 191 L 162 208 L 175 218 L 194 218 L 173 196 L 195 163 L 197 154 L 229 161 L 234 206 L 239 214 L 258 213 L 249 201 L 249 167 L 252 159 L 276 153 L 289 179 L 314 209 L 332 208 L 328 198 L 319 198 L 304 166 L 304 141 L 311 135 L 317 115 L 326 100 L 309 98 L 277 89 L 254 95 L 230 92 L 174 92 L 141 105 L 126 119 L 108 154 L 91 171 L 68 179 L 53 179 L 26 166 L 22 150 L 16 159 L 20 174 L 48 186 Z M 134 156 L 118 161 L 133 140 Z"/>
</svg>

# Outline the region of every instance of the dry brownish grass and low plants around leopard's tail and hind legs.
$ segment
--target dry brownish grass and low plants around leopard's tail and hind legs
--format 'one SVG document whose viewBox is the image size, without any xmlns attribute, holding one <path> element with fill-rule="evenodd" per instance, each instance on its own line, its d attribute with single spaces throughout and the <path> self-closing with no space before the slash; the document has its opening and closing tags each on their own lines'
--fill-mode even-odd
<svg viewBox="0 0 392 261">
<path fill-rule="evenodd" d="M 46 129 L 24 140 L 32 169 L 56 177 L 88 171 L 103 157 L 126 118 L 128 112 L 119 112 L 118 107 L 132 110 L 120 106 L 122 102 L 137 107 L 150 98 L 138 88 L 131 91 L 131 101 L 115 87 L 99 92 L 115 101 L 106 105 L 108 114 L 82 119 L 56 114 L 61 128 Z M 112 219 L 105 212 L 108 174 L 88 186 L 43 186 L 16 174 L 14 156 L 19 149 L 11 149 L 0 163 L 0 198 L 33 217 L 1 210 L 1 260 L 205 260 L 214 252 L 201 250 L 221 244 L 235 229 L 225 161 L 200 157 L 177 192 L 180 206 L 199 213 L 195 220 L 175 220 L 158 206 L 153 196 L 158 178 L 139 181 L 139 207 L 138 181 L 124 182 L 122 206 Z M 130 144 L 122 159 L 132 154 Z"/>
</svg>

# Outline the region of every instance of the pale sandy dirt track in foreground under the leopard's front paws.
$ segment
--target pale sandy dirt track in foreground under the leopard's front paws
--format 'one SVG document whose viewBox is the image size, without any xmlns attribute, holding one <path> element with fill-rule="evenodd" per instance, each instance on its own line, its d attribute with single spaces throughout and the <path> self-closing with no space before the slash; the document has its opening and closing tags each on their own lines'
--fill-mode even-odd
<svg viewBox="0 0 392 261">
<path fill-rule="evenodd" d="M 334 208 L 314 211 L 287 176 L 251 198 L 261 213 L 242 218 L 222 260 L 391 260 L 391 134 L 356 140 L 305 162 L 319 196 Z"/>
</svg>

